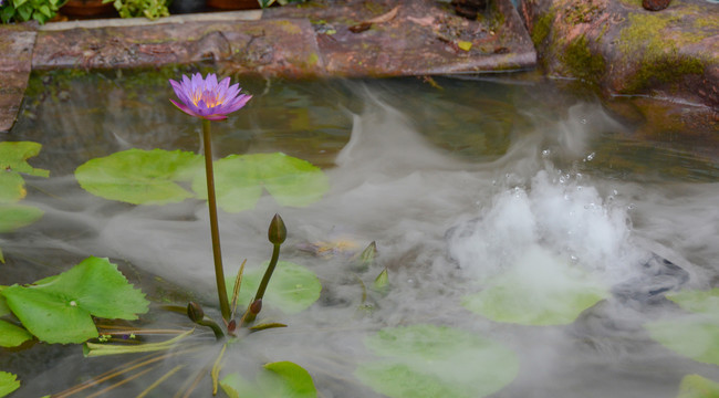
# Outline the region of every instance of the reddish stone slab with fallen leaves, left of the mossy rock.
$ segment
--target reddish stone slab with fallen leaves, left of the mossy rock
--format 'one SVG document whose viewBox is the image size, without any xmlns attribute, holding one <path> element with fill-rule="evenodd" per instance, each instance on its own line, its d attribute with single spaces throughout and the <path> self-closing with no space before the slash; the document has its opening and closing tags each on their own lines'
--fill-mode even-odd
<svg viewBox="0 0 719 398">
<path fill-rule="evenodd" d="M 534 67 L 536 53 L 515 9 L 509 0 L 493 4 L 477 20 L 456 15 L 448 3 L 427 0 L 283 7 L 267 10 L 262 18 L 310 19 L 331 75 L 397 76 Z M 367 23 L 373 20 L 378 21 Z"/>
</svg>

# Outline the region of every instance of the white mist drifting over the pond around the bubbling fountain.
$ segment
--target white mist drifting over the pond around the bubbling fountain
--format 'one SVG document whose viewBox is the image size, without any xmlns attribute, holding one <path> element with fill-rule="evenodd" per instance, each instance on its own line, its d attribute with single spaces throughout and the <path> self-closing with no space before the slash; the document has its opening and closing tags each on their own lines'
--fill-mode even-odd
<svg viewBox="0 0 719 398">
<path fill-rule="evenodd" d="M 531 128 L 513 130 L 507 153 L 477 163 L 430 144 L 413 113 L 393 107 L 398 100 L 386 92 L 353 88 L 365 106 L 337 109 L 352 118 L 352 134 L 335 167 L 325 170 L 331 188 L 320 202 L 281 208 L 264 196 L 251 211 L 221 213 L 228 275 L 243 259 L 248 266 L 269 259 L 267 228 L 279 212 L 289 231 L 281 259 L 312 269 L 324 285 L 321 301 L 301 315 L 268 308 L 267 316 L 290 327 L 253 335 L 248 349 L 262 360 L 305 366 L 325 380 L 319 385 L 323 397 L 373 396 L 352 376 L 358 362 L 372 359 L 362 338 L 416 323 L 457 326 L 515 350 L 520 377 L 498 397 L 675 397 L 686 374 L 719 379 L 716 368 L 678 357 L 640 328 L 671 310 L 648 305 L 652 292 L 717 285 L 718 182 L 639 185 L 592 170 L 593 142 L 622 128 L 596 104 L 571 106 L 559 118 L 541 108 L 523 111 Z M 115 144 L 133 146 L 126 137 Z M 580 170 L 579 164 L 586 167 Z M 74 184 L 70 176 L 35 182 Z M 35 237 L 45 239 L 42 244 L 126 260 L 213 302 L 204 202 L 132 207 L 71 192 L 62 206 L 40 203 L 56 228 L 53 239 Z M 35 238 L 3 242 L 3 250 L 30 249 Z M 365 284 L 389 270 L 392 289 L 372 297 L 372 315 L 357 316 L 362 289 L 346 266 L 352 253 L 323 258 L 301 250 L 337 240 L 352 242 L 355 251 L 377 243 L 377 265 L 357 273 Z M 686 275 L 666 272 L 663 259 Z M 462 295 L 518 262 L 536 283 L 562 283 L 532 260 L 569 263 L 616 296 L 570 326 L 499 324 L 461 306 Z"/>
</svg>

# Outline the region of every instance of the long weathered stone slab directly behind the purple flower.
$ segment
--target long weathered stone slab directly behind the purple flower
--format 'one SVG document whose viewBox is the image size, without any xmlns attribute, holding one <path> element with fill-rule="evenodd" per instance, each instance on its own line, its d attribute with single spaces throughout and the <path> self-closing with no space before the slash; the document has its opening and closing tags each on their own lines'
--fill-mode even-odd
<svg viewBox="0 0 719 398">
<path fill-rule="evenodd" d="M 305 20 L 207 21 L 41 31 L 33 67 L 117 69 L 222 61 L 239 72 L 322 75 Z"/>
</svg>

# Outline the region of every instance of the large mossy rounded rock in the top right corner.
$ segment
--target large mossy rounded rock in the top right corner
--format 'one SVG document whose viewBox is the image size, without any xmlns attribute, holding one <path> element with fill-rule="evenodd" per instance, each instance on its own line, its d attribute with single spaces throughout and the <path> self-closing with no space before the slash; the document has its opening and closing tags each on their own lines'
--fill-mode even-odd
<svg viewBox="0 0 719 398">
<path fill-rule="evenodd" d="M 595 82 L 608 95 L 649 95 L 719 109 L 719 6 L 673 0 L 522 0 L 549 74 Z M 716 121 L 719 122 L 719 121 Z"/>
</svg>

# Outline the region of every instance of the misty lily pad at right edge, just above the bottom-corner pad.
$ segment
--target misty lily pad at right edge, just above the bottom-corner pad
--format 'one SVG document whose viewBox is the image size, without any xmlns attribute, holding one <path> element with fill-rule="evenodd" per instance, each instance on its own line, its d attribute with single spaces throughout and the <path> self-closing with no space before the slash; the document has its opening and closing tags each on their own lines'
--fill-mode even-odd
<svg viewBox="0 0 719 398">
<path fill-rule="evenodd" d="M 719 365 L 719 317 L 689 315 L 644 325 L 663 346 L 694 360 Z"/>
</svg>

